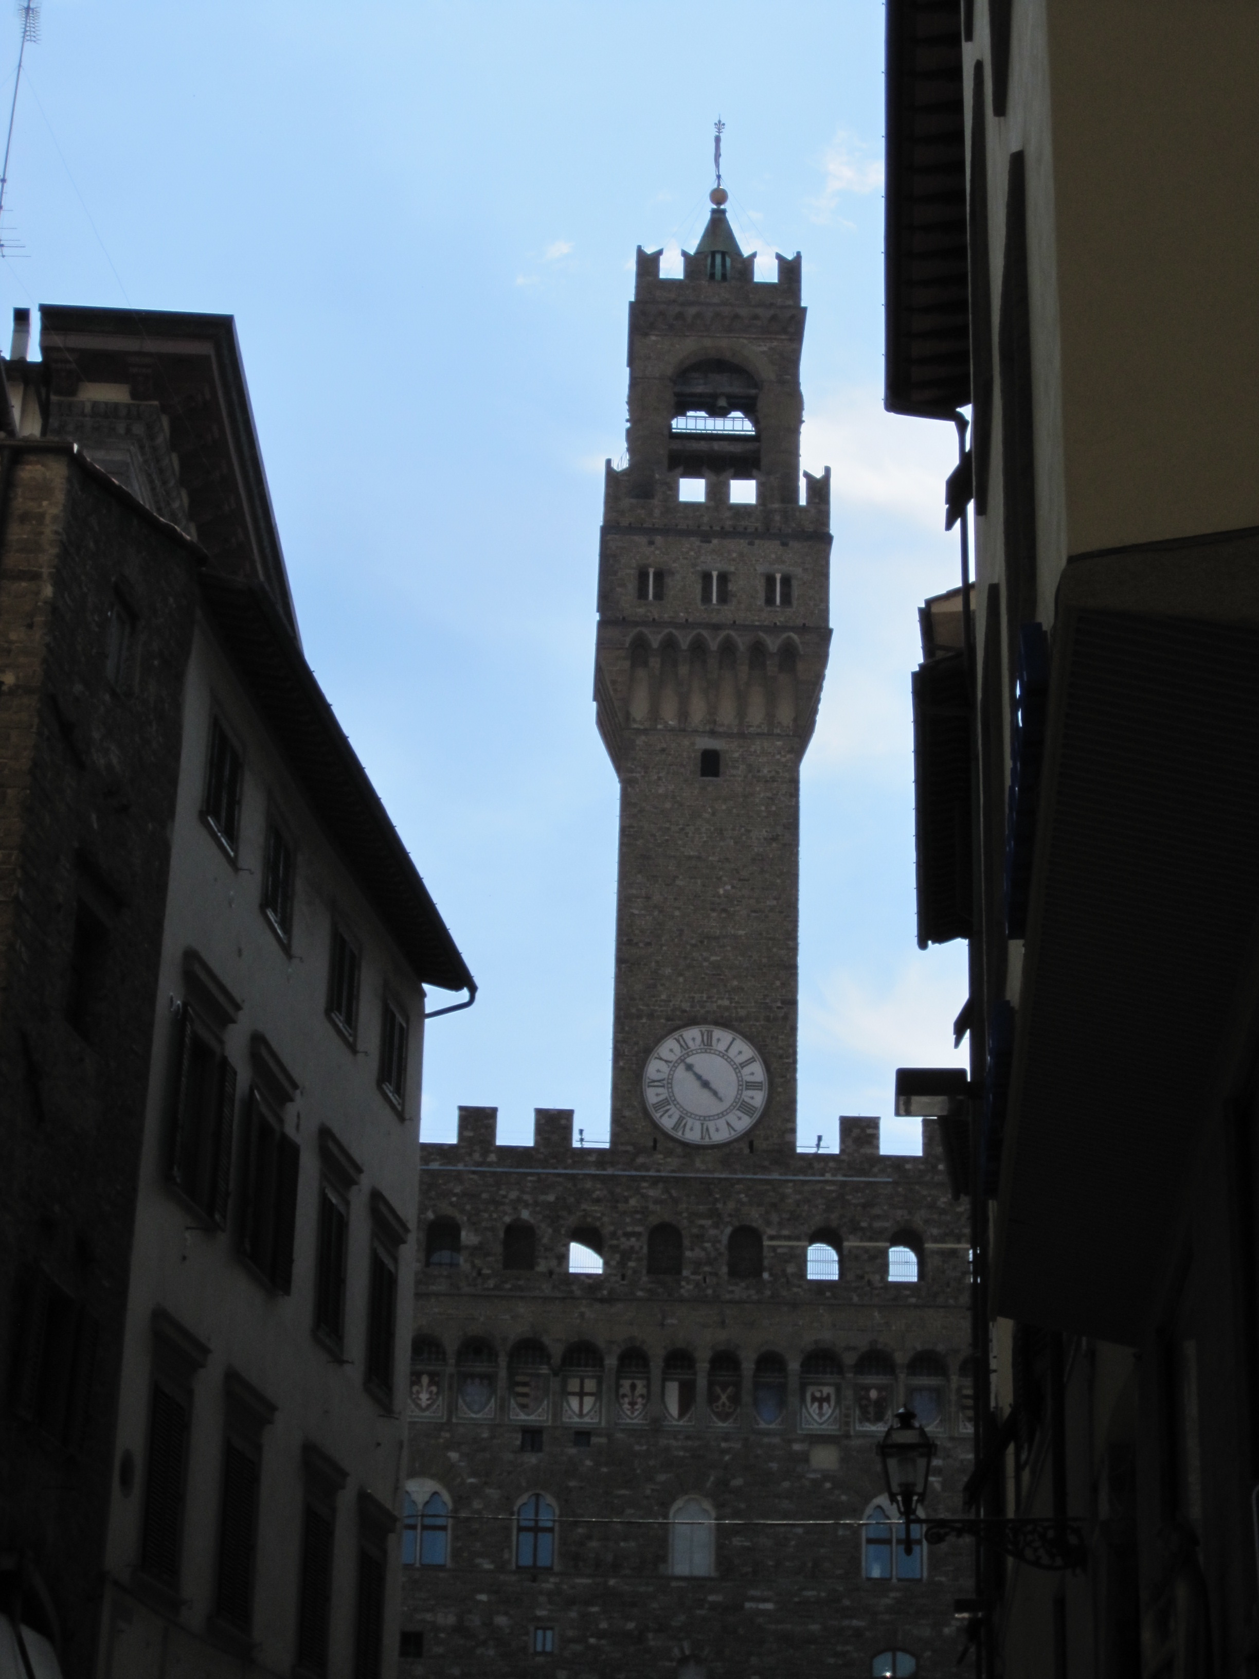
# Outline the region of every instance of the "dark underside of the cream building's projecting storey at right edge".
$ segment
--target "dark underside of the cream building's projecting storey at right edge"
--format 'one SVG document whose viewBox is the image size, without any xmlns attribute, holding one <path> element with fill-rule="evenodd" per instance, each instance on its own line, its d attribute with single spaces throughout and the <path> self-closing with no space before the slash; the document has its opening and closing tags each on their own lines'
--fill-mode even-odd
<svg viewBox="0 0 1259 1679">
<path fill-rule="evenodd" d="M 1138 1345 L 1259 1023 L 1259 531 L 1058 593 L 994 1310 Z"/>
</svg>

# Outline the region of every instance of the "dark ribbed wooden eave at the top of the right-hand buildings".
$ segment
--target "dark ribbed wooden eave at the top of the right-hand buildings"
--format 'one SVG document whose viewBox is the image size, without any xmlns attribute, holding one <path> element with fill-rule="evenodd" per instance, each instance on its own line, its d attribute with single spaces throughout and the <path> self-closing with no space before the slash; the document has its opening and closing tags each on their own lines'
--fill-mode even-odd
<svg viewBox="0 0 1259 1679">
<path fill-rule="evenodd" d="M 888 0 L 883 406 L 970 401 L 960 0 Z"/>
</svg>

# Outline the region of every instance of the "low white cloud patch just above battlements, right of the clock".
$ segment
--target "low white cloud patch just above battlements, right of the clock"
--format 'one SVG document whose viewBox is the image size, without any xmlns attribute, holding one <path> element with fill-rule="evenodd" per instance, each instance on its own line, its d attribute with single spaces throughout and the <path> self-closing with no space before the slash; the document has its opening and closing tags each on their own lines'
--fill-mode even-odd
<svg viewBox="0 0 1259 1679">
<path fill-rule="evenodd" d="M 821 1002 L 804 1006 L 809 1034 L 891 1066 L 960 1066 L 965 1053 L 953 1049 L 952 1026 L 965 992 L 950 967 L 917 955 L 883 987 L 836 969 Z"/>
</svg>

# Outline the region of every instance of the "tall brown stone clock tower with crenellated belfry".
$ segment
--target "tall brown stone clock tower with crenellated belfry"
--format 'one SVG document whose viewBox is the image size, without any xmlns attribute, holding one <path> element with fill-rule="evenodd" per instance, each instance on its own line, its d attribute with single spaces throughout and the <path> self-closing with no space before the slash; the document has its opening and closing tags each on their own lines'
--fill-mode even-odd
<svg viewBox="0 0 1259 1679">
<path fill-rule="evenodd" d="M 829 468 L 801 504 L 799 254 L 757 282 L 725 191 L 710 196 L 680 280 L 638 252 L 630 452 L 606 472 L 611 1145 L 757 1170 L 796 1148 L 799 764 L 831 640 Z"/>
</svg>

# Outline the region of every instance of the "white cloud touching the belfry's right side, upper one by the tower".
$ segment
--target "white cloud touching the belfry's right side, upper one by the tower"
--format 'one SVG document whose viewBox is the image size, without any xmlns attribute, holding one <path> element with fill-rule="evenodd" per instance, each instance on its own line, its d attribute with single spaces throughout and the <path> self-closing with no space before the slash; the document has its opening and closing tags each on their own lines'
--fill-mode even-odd
<svg viewBox="0 0 1259 1679">
<path fill-rule="evenodd" d="M 801 453 L 809 472 L 829 465 L 834 502 L 943 531 L 943 480 L 957 465 L 950 425 L 890 415 L 876 388 L 851 386 L 809 408 Z"/>
</svg>

